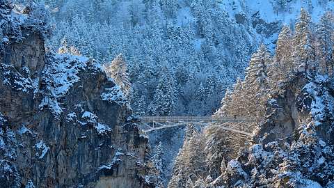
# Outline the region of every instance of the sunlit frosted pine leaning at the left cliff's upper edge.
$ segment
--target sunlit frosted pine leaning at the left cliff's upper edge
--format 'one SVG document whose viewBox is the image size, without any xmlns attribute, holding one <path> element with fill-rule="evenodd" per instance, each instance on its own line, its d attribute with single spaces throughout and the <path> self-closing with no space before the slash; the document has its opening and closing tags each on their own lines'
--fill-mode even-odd
<svg viewBox="0 0 334 188">
<path fill-rule="evenodd" d="M 122 54 L 119 54 L 109 65 L 106 65 L 105 68 L 106 74 L 120 86 L 125 96 L 130 95 L 131 83 L 127 75 L 127 63 L 123 58 Z"/>
</svg>

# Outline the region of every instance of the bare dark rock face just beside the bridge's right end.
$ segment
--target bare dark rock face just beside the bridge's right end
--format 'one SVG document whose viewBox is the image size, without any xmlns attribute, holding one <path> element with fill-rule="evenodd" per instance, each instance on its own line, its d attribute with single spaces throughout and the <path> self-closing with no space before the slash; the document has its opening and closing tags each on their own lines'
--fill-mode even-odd
<svg viewBox="0 0 334 188">
<path fill-rule="evenodd" d="M 293 134 L 301 125 L 307 122 L 307 114 L 299 110 L 298 94 L 306 84 L 306 79 L 293 77 L 280 93 L 273 93 L 269 100 L 265 123 L 260 127 L 259 136 L 264 136 L 264 143 L 282 139 L 291 142 Z M 306 116 L 305 116 L 306 115 Z"/>
</svg>

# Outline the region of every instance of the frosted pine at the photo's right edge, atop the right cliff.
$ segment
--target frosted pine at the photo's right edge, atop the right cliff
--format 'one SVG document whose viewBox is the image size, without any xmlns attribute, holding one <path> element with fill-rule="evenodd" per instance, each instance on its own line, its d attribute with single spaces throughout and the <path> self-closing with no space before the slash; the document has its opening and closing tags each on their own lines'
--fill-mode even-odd
<svg viewBox="0 0 334 188">
<path fill-rule="evenodd" d="M 317 56 L 319 56 L 319 65 L 321 72 L 329 74 L 333 70 L 333 32 L 334 15 L 332 12 L 326 12 L 317 24 Z"/>
</svg>

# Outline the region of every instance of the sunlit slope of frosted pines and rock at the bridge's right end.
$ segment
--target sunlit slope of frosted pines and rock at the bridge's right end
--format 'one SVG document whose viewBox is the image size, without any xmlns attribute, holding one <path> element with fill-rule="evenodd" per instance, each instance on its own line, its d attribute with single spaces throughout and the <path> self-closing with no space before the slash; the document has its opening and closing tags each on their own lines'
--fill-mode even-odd
<svg viewBox="0 0 334 188">
<path fill-rule="evenodd" d="M 274 56 L 260 46 L 214 114 L 259 120 L 229 125 L 255 136 L 189 126 L 168 187 L 334 186 L 334 15 L 297 20 Z"/>
</svg>

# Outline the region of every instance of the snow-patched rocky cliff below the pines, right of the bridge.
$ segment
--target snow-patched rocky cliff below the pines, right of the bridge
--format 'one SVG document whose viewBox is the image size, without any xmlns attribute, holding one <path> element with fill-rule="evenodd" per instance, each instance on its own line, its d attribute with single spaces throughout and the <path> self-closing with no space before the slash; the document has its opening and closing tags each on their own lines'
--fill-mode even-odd
<svg viewBox="0 0 334 188">
<path fill-rule="evenodd" d="M 298 73 L 273 93 L 253 146 L 212 185 L 333 187 L 333 79 Z"/>
</svg>

